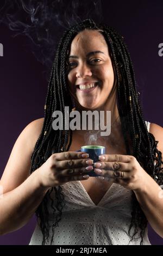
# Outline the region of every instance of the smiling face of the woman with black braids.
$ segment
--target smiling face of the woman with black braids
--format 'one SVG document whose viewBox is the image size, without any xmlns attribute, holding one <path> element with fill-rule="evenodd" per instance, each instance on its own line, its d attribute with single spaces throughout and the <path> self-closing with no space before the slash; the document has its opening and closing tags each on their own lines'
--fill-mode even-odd
<svg viewBox="0 0 163 256">
<path fill-rule="evenodd" d="M 69 89 L 77 103 L 86 109 L 98 109 L 109 100 L 114 70 L 102 34 L 85 29 L 76 35 L 71 44 L 68 69 Z"/>
</svg>

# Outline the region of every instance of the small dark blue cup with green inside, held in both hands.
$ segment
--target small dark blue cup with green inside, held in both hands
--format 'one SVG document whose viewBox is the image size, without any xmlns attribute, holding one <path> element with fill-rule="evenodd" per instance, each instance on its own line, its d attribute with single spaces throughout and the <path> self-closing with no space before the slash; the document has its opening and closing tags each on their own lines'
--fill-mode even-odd
<svg viewBox="0 0 163 256">
<path fill-rule="evenodd" d="M 93 163 L 96 163 L 99 161 L 98 156 L 105 154 L 105 147 L 96 145 L 82 146 L 80 151 L 88 153 L 89 158 L 93 160 Z M 99 176 L 98 174 L 95 174 L 94 168 L 92 171 L 87 172 L 87 174 L 92 177 Z"/>
</svg>

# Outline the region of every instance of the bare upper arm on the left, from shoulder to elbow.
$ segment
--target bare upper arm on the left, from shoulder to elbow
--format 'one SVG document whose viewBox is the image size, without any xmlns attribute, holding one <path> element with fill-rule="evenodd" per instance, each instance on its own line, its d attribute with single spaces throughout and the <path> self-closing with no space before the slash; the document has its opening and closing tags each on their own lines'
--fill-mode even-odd
<svg viewBox="0 0 163 256">
<path fill-rule="evenodd" d="M 1 177 L 3 193 L 18 187 L 30 175 L 31 154 L 43 127 L 44 118 L 30 122 L 18 136 Z"/>
</svg>

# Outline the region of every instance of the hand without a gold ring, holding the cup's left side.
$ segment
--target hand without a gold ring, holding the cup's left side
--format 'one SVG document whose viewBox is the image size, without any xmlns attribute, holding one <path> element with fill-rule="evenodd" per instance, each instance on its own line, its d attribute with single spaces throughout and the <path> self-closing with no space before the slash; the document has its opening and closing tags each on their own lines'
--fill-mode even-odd
<svg viewBox="0 0 163 256">
<path fill-rule="evenodd" d="M 68 181 L 86 180 L 89 178 L 86 172 L 93 169 L 92 165 L 93 160 L 85 152 L 54 153 L 38 169 L 40 184 L 50 188 Z"/>
</svg>

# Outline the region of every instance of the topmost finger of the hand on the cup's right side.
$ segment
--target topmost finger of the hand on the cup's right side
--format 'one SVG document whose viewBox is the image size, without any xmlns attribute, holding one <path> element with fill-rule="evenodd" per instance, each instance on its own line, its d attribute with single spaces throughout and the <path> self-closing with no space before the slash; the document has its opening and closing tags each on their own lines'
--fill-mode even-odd
<svg viewBox="0 0 163 256">
<path fill-rule="evenodd" d="M 109 161 L 109 162 L 128 163 L 132 158 L 133 156 L 126 155 L 126 154 L 101 154 L 101 156 L 99 156 L 99 160 L 102 162 Z"/>
</svg>

